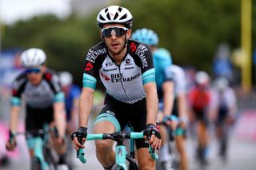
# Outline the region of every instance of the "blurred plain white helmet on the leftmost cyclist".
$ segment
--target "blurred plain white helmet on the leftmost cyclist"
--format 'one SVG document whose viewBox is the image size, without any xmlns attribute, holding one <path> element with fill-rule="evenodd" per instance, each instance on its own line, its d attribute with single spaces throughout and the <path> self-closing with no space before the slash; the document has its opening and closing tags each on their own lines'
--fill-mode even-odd
<svg viewBox="0 0 256 170">
<path fill-rule="evenodd" d="M 46 53 L 42 49 L 26 49 L 22 52 L 21 61 L 25 68 L 38 67 L 46 62 Z"/>
</svg>

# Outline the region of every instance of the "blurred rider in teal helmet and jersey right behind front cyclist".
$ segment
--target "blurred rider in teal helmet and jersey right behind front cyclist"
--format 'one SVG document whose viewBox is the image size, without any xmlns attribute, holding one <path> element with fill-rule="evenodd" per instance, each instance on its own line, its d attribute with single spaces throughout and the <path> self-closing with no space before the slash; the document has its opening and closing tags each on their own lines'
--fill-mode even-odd
<svg viewBox="0 0 256 170">
<path fill-rule="evenodd" d="M 146 45 L 150 45 L 150 49 L 153 52 L 153 61 L 156 75 L 156 83 L 158 88 L 158 99 L 159 99 L 159 109 L 164 114 L 158 114 L 159 121 L 166 121 L 166 117 L 170 116 L 174 113 L 174 89 L 178 89 L 181 87 L 175 84 L 176 78 L 174 71 L 170 69 L 172 65 L 172 58 L 170 56 L 170 52 L 163 48 L 158 48 L 158 35 L 154 33 L 153 30 L 150 29 L 140 29 L 136 30 L 132 36 L 134 40 L 138 42 L 143 42 Z M 176 85 L 176 87 L 175 87 Z M 161 113 L 161 111 L 159 113 Z M 179 115 L 175 115 L 177 117 L 181 117 L 182 113 Z M 163 117 L 162 117 L 163 116 Z M 167 122 L 172 128 L 176 128 L 174 122 Z M 177 128 L 178 130 L 178 128 Z M 167 149 L 165 147 L 165 138 L 166 138 L 166 128 L 160 127 L 160 133 L 162 136 L 162 148 L 160 154 L 163 156 L 163 161 L 168 159 Z M 177 133 L 177 132 L 175 132 Z M 181 138 L 181 140 L 177 140 L 176 138 Z M 186 165 L 186 152 L 185 152 L 185 144 L 183 142 L 183 137 L 176 136 L 175 141 L 178 145 L 178 151 L 181 157 L 181 167 L 183 169 L 187 169 Z M 179 149 L 181 148 L 181 149 Z M 161 161 L 161 158 L 160 158 Z"/>
</svg>

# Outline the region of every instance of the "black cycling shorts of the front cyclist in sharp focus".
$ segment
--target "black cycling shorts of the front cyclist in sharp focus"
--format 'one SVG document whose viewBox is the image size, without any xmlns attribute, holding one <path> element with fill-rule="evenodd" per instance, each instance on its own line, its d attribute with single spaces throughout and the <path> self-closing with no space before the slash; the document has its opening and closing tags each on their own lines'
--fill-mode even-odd
<svg viewBox="0 0 256 170">
<path fill-rule="evenodd" d="M 142 132 L 146 128 L 146 99 L 142 99 L 134 104 L 126 104 L 110 97 L 106 94 L 102 113 L 111 113 L 119 122 L 121 131 L 131 123 L 134 132 Z M 135 140 L 136 148 L 148 148 L 149 144 L 144 139 Z"/>
</svg>

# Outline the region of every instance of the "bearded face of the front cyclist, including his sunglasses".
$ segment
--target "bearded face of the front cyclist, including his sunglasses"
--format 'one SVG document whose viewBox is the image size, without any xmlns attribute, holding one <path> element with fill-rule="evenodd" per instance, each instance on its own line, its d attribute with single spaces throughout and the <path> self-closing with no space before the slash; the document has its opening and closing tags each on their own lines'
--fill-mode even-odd
<svg viewBox="0 0 256 170">
<path fill-rule="evenodd" d="M 101 35 L 110 52 L 118 54 L 122 51 L 126 39 L 130 38 L 131 30 L 122 24 L 105 24 L 101 30 Z"/>
</svg>

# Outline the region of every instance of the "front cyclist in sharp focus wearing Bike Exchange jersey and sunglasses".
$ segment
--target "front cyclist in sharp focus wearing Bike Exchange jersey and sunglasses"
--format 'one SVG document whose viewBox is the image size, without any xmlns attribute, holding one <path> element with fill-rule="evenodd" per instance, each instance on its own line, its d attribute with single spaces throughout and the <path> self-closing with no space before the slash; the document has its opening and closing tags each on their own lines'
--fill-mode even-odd
<svg viewBox="0 0 256 170">
<path fill-rule="evenodd" d="M 122 131 L 128 122 L 134 131 L 146 130 L 148 143 L 158 149 L 161 139 L 156 127 L 158 96 L 155 85 L 152 53 L 147 45 L 129 40 L 132 15 L 122 6 L 102 9 L 97 17 L 103 42 L 90 48 L 83 73 L 79 101 L 78 130 L 71 136 L 74 148 L 85 148 L 87 124 L 93 105 L 94 89 L 99 76 L 106 87 L 105 103 L 96 118 L 94 133 Z M 77 136 L 83 136 L 78 141 Z M 139 169 L 155 169 L 149 144 L 135 140 Z M 112 140 L 96 140 L 96 155 L 105 169 L 115 161 Z"/>
</svg>

